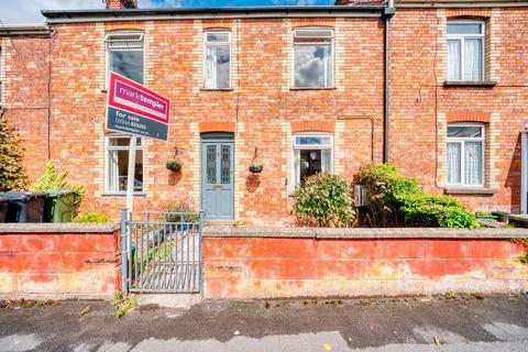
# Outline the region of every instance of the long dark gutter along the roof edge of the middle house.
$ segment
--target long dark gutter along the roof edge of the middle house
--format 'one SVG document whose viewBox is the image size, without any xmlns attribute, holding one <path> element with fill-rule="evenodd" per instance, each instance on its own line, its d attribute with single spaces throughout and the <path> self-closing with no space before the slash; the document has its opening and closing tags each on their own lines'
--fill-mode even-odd
<svg viewBox="0 0 528 352">
<path fill-rule="evenodd" d="M 46 23 L 197 19 L 380 18 L 385 6 L 172 8 L 125 10 L 43 10 Z"/>
</svg>

